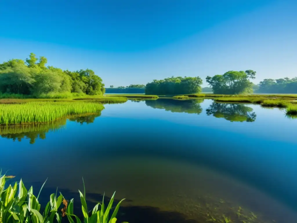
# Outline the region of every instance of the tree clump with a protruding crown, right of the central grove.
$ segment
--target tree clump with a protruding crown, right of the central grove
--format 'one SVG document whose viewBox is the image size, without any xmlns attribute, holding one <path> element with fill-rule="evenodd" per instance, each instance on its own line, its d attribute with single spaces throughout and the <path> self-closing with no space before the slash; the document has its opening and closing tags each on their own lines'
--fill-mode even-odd
<svg viewBox="0 0 297 223">
<path fill-rule="evenodd" d="M 212 87 L 214 94 L 246 94 L 252 93 L 253 83 L 249 79 L 254 79 L 256 71 L 228 71 L 223 75 L 207 76 L 206 82 Z"/>
</svg>

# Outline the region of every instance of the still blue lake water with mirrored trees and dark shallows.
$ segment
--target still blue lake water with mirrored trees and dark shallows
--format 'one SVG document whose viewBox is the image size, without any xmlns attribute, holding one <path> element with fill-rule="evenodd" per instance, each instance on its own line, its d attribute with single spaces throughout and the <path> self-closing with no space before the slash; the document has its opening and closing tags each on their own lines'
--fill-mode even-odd
<svg viewBox="0 0 297 223">
<path fill-rule="evenodd" d="M 0 168 L 35 193 L 48 178 L 44 201 L 58 187 L 77 206 L 83 176 L 89 202 L 127 199 L 119 222 L 297 222 L 296 127 L 284 110 L 254 104 L 128 101 L 2 127 Z"/>
</svg>

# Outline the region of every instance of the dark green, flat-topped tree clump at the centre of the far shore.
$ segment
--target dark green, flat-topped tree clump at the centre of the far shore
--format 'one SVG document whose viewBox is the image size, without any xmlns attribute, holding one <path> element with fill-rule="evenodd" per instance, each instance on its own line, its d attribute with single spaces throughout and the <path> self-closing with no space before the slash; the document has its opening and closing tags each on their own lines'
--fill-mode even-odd
<svg viewBox="0 0 297 223">
<path fill-rule="evenodd" d="M 200 77 L 169 77 L 146 84 L 146 95 L 181 95 L 201 92 Z"/>
</svg>

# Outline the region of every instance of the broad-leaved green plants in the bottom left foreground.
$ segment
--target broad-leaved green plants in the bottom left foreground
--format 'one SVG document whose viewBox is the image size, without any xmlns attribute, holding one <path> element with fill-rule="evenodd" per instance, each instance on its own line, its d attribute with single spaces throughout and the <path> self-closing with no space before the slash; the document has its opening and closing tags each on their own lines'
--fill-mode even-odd
<svg viewBox="0 0 297 223">
<path fill-rule="evenodd" d="M 55 194 L 51 194 L 50 201 L 47 203 L 44 212 L 41 213 L 41 205 L 38 202 L 38 198 L 44 184 L 36 197 L 33 194 L 33 188 L 31 187 L 29 191 L 27 191 L 22 180 L 20 180 L 19 183 L 15 183 L 14 186 L 9 185 L 5 188 L 7 178 L 12 178 L 12 176 L 1 176 L 0 172 L 0 223 L 61 223 L 62 217 L 64 216 L 67 216 L 70 223 L 81 223 L 78 216 L 73 213 L 73 199 L 68 202 L 61 193 L 59 197 Z M 102 203 L 98 203 L 93 210 L 91 210 L 92 212 L 87 208 L 85 190 L 84 193 L 79 191 L 79 194 L 84 223 L 116 222 L 116 215 L 124 199 L 116 205 L 110 216 L 115 194 L 111 197 L 107 207 L 104 206 L 103 196 Z M 60 211 L 61 205 L 64 207 Z"/>
</svg>

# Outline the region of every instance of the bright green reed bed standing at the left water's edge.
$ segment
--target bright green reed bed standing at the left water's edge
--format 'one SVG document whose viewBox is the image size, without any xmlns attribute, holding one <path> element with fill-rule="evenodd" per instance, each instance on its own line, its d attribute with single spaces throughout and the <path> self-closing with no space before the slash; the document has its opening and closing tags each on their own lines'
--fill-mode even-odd
<svg viewBox="0 0 297 223">
<path fill-rule="evenodd" d="M 97 113 L 100 103 L 87 102 L 28 102 L 0 104 L 0 125 L 50 122 L 76 114 Z"/>
</svg>

